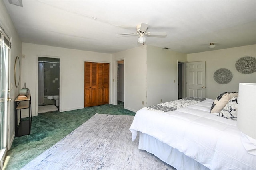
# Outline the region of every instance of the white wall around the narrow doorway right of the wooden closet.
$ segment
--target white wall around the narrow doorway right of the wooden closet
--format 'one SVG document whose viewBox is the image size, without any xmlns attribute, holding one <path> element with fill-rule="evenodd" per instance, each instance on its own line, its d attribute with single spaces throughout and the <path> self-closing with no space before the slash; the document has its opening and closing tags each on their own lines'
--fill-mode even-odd
<svg viewBox="0 0 256 170">
<path fill-rule="evenodd" d="M 114 86 L 113 98 L 117 101 L 117 61 L 124 59 L 124 108 L 138 111 L 146 106 L 146 45 L 114 53 L 113 55 Z M 144 105 L 142 104 L 144 101 Z"/>
</svg>

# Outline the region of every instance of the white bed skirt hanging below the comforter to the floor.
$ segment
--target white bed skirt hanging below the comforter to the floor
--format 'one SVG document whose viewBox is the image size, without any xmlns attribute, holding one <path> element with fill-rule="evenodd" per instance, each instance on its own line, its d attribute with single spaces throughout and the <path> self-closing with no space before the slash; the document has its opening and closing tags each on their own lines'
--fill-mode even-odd
<svg viewBox="0 0 256 170">
<path fill-rule="evenodd" d="M 158 139 L 142 132 L 138 133 L 139 149 L 154 154 L 160 160 L 173 166 L 177 170 L 209 170 L 206 166 L 186 156 L 182 152 L 179 152 L 177 149 L 162 143 Z"/>
</svg>

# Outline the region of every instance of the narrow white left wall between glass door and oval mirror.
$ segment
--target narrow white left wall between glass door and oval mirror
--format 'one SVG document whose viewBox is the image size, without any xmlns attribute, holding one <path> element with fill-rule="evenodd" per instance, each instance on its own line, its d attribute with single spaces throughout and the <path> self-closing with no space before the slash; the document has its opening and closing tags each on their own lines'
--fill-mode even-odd
<svg viewBox="0 0 256 170">
<path fill-rule="evenodd" d="M 21 61 L 21 49 L 22 42 L 20 41 L 20 37 L 12 23 L 12 20 L 7 12 L 6 6 L 4 5 L 4 1 L 0 0 L 0 25 L 6 31 L 6 34 L 11 39 L 12 48 L 10 50 L 10 65 L 9 65 L 9 97 L 12 98 L 12 101 L 9 102 L 9 115 L 8 115 L 8 149 L 12 144 L 15 135 L 15 117 L 14 117 L 14 100 L 18 96 L 18 90 L 20 89 L 20 85 L 18 88 L 15 86 L 14 82 L 14 63 L 16 56 L 20 57 Z M 20 63 L 21 64 L 21 63 Z"/>
</svg>

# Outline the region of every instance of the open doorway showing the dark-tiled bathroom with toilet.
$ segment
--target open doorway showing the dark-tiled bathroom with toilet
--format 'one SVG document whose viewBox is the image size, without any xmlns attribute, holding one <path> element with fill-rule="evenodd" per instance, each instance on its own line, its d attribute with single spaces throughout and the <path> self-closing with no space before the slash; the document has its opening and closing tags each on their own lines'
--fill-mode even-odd
<svg viewBox="0 0 256 170">
<path fill-rule="evenodd" d="M 38 113 L 59 110 L 60 59 L 38 57 Z"/>
</svg>

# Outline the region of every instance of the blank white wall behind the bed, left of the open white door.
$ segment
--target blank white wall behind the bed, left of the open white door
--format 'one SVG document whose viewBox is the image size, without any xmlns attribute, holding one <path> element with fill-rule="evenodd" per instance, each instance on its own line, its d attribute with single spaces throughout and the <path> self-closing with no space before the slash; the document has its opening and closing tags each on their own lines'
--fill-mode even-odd
<svg viewBox="0 0 256 170">
<path fill-rule="evenodd" d="M 178 61 L 187 55 L 147 46 L 147 106 L 178 100 Z"/>
</svg>

